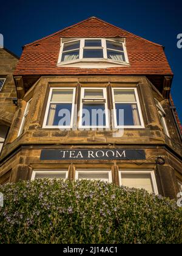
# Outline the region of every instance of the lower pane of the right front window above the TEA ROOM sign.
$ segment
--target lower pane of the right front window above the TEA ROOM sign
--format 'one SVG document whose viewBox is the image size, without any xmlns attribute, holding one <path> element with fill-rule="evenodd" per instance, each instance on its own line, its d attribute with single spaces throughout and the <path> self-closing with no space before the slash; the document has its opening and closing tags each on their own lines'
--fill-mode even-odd
<svg viewBox="0 0 182 256">
<path fill-rule="evenodd" d="M 136 104 L 115 104 L 117 126 L 123 126 L 121 110 L 124 110 L 124 126 L 140 126 L 140 118 Z"/>
</svg>

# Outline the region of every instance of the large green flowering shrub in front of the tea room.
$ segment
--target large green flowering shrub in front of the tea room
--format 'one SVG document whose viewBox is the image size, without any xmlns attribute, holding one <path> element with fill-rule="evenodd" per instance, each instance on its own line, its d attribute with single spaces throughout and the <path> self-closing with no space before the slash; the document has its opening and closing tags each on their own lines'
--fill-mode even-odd
<svg viewBox="0 0 182 256">
<path fill-rule="evenodd" d="M 181 208 L 145 190 L 82 180 L 0 188 L 0 243 L 181 243 Z"/>
</svg>

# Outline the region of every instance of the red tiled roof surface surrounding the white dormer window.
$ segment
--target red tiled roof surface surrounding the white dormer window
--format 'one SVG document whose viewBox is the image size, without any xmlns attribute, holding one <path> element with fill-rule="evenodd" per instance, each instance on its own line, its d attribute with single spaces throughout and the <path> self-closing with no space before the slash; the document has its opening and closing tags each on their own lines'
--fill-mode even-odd
<svg viewBox="0 0 182 256">
<path fill-rule="evenodd" d="M 103 69 L 58 67 L 61 37 L 124 37 L 130 66 Z M 41 40 L 27 44 L 15 75 L 48 74 L 147 74 L 172 75 L 163 46 L 92 17 Z"/>
</svg>

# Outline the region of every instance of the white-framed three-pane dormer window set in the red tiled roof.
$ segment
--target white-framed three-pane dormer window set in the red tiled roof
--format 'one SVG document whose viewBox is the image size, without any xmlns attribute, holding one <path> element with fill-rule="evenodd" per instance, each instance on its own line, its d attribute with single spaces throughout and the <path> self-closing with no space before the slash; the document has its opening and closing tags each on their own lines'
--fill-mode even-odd
<svg viewBox="0 0 182 256">
<path fill-rule="evenodd" d="M 75 38 L 74 40 L 62 38 L 58 66 L 62 65 L 81 68 L 129 65 L 125 40 L 124 38 L 117 40 L 112 38 Z"/>
</svg>

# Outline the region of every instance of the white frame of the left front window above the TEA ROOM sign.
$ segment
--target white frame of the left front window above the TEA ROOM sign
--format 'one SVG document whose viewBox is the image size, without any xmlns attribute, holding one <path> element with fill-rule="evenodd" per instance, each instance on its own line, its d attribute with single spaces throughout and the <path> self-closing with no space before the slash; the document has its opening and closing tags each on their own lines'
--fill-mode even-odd
<svg viewBox="0 0 182 256">
<path fill-rule="evenodd" d="M 52 92 L 53 90 L 73 90 L 73 100 L 72 100 L 72 116 L 71 116 L 71 122 L 70 122 L 70 126 L 47 126 L 47 118 L 48 118 L 48 114 L 49 114 L 49 106 L 50 104 L 61 104 L 62 102 L 54 102 L 51 101 L 51 97 L 52 97 Z M 64 129 L 71 129 L 73 127 L 73 119 L 74 119 L 74 111 L 75 111 L 75 94 L 76 94 L 76 88 L 75 87 L 51 87 L 50 91 L 49 91 L 49 98 L 47 101 L 47 107 L 45 110 L 45 116 L 44 116 L 44 123 L 42 128 L 64 128 Z M 63 102 L 65 103 L 65 102 Z"/>
</svg>

